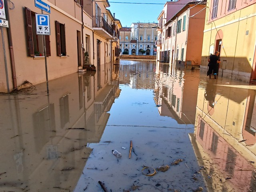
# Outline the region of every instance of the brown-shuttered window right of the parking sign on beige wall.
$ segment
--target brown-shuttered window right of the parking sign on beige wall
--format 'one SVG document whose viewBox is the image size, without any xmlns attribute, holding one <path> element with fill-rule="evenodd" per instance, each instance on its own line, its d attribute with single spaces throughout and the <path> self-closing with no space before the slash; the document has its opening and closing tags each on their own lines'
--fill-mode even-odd
<svg viewBox="0 0 256 192">
<path fill-rule="evenodd" d="M 66 56 L 66 34 L 65 34 L 65 24 L 61 24 L 55 21 L 56 27 L 56 43 L 57 43 L 57 55 Z"/>
</svg>

